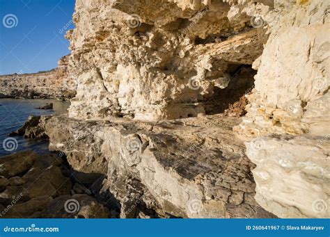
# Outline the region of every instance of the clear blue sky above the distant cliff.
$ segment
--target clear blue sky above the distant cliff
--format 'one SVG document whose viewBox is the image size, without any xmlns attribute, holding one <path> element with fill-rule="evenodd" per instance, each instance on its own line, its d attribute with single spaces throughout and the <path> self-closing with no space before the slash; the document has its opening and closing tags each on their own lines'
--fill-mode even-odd
<svg viewBox="0 0 330 237">
<path fill-rule="evenodd" d="M 74 0 L 0 0 L 0 75 L 56 67 L 70 54 L 73 12 Z"/>
</svg>

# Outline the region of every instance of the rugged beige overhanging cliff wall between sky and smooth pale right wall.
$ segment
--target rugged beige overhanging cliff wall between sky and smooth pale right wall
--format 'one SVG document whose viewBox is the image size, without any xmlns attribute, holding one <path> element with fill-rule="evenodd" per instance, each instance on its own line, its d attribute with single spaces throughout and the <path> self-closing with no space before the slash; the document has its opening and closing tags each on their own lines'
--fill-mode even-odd
<svg viewBox="0 0 330 237">
<path fill-rule="evenodd" d="M 157 121 L 221 111 L 226 88 L 242 95 L 253 83 L 251 65 L 267 40 L 251 17 L 228 18 L 230 10 L 223 1 L 78 0 L 77 28 L 67 35 L 78 80 L 70 117 Z"/>
</svg>

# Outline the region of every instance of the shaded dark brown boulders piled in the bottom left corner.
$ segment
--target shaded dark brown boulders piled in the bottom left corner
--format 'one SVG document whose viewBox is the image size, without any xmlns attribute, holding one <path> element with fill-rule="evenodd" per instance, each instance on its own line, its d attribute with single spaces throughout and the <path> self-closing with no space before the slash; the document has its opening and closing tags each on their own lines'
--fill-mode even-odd
<svg viewBox="0 0 330 237">
<path fill-rule="evenodd" d="M 90 186 L 81 183 L 65 159 L 56 154 L 19 152 L 1 157 L 0 165 L 1 218 L 116 216 L 91 195 L 99 192 L 102 177 Z"/>
</svg>

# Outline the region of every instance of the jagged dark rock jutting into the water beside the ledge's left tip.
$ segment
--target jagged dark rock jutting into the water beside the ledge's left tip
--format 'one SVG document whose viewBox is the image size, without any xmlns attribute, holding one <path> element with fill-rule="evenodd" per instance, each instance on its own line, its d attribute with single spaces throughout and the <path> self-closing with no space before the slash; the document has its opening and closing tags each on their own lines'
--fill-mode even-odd
<svg viewBox="0 0 330 237">
<path fill-rule="evenodd" d="M 49 117 L 51 116 L 31 115 L 21 128 L 9 133 L 9 136 L 24 136 L 24 138 L 36 139 L 48 138 L 43 124 L 49 119 Z"/>
</svg>

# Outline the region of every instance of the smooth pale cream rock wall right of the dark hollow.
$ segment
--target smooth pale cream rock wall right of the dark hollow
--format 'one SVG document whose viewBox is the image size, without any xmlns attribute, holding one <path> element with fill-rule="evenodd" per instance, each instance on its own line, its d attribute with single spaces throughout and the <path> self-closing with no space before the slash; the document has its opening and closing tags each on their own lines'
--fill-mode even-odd
<svg viewBox="0 0 330 237">
<path fill-rule="evenodd" d="M 329 1 L 275 1 L 242 124 L 256 200 L 281 218 L 330 217 Z M 281 179 L 278 179 L 281 177 Z"/>
</svg>

